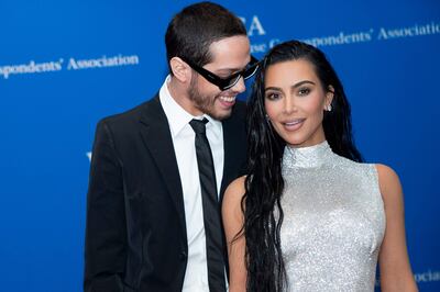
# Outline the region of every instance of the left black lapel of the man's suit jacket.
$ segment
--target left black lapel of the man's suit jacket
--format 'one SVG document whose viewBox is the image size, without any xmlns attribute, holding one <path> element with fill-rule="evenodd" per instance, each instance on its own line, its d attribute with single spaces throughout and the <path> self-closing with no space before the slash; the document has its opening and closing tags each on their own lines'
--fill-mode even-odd
<svg viewBox="0 0 440 292">
<path fill-rule="evenodd" d="M 145 106 L 140 123 L 142 139 L 152 154 L 179 216 L 186 236 L 184 194 L 168 121 L 156 96 Z"/>
</svg>

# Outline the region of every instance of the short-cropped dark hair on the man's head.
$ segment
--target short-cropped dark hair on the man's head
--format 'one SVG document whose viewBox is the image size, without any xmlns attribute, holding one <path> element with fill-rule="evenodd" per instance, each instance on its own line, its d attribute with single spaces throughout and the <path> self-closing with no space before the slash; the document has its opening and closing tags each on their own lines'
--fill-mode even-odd
<svg viewBox="0 0 440 292">
<path fill-rule="evenodd" d="M 182 57 L 204 66 L 211 61 L 209 46 L 213 42 L 235 35 L 246 35 L 246 29 L 226 8 L 212 2 L 186 7 L 173 18 L 166 30 L 168 66 L 173 57 Z"/>
</svg>

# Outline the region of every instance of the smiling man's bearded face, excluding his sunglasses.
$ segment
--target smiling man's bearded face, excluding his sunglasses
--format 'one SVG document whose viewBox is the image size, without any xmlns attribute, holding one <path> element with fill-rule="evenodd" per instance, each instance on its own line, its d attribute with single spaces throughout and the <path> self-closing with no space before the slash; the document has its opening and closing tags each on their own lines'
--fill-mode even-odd
<svg viewBox="0 0 440 292">
<path fill-rule="evenodd" d="M 204 66 L 215 75 L 227 78 L 242 70 L 251 60 L 249 38 L 244 35 L 226 37 L 213 42 L 210 47 L 211 63 Z M 240 80 L 224 91 L 206 80 L 201 75 L 193 71 L 188 96 L 191 100 L 191 112 L 208 114 L 217 120 L 231 115 L 238 94 L 245 90 L 244 80 Z"/>
</svg>

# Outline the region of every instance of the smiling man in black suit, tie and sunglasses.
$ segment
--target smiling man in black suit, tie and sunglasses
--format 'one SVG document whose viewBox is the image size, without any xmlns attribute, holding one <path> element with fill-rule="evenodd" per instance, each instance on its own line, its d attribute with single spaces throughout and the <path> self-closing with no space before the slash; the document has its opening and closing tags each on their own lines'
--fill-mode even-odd
<svg viewBox="0 0 440 292">
<path fill-rule="evenodd" d="M 165 43 L 160 93 L 97 127 L 86 291 L 226 291 L 219 210 L 245 158 L 235 97 L 257 65 L 241 21 L 210 2 L 175 15 Z"/>
</svg>

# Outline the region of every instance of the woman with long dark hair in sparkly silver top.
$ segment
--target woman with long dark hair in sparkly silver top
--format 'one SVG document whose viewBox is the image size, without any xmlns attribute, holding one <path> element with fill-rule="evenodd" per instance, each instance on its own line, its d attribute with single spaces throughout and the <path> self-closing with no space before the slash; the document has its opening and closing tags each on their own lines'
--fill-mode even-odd
<svg viewBox="0 0 440 292">
<path fill-rule="evenodd" d="M 249 175 L 223 199 L 230 291 L 417 291 L 397 175 L 361 164 L 342 85 L 314 46 L 262 61 L 249 101 Z"/>
</svg>

